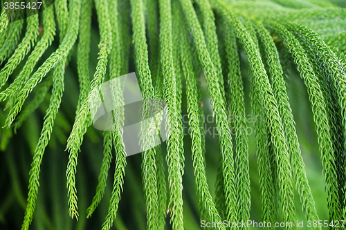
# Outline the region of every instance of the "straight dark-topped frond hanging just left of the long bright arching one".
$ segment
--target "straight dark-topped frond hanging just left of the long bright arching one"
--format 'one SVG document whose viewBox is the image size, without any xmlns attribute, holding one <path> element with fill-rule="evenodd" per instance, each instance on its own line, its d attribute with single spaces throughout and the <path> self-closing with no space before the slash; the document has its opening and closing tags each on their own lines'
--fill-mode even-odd
<svg viewBox="0 0 346 230">
<path fill-rule="evenodd" d="M 226 23 L 226 22 L 225 22 Z M 237 184 L 237 220 L 250 218 L 250 178 L 248 174 L 248 135 L 244 104 L 244 89 L 240 70 L 239 55 L 235 35 L 228 23 L 225 33 L 225 48 L 228 59 L 228 105 L 233 117 L 235 136 L 235 183 Z"/>
</svg>

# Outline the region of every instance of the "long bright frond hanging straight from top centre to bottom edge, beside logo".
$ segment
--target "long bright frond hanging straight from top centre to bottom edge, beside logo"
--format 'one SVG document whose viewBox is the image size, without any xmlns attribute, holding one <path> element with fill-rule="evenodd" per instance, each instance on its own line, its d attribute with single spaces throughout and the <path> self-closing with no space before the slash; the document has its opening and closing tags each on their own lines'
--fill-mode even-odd
<svg viewBox="0 0 346 230">
<path fill-rule="evenodd" d="M 174 66 L 172 42 L 172 12 L 170 0 L 159 0 L 160 7 L 160 53 L 163 72 L 163 97 L 170 117 L 170 138 L 167 140 L 167 165 L 170 189 L 171 222 L 174 229 L 183 229 L 183 142 L 181 135 L 181 109 L 179 102 L 180 71 Z M 174 31 L 176 32 L 176 31 Z M 178 52 L 178 50 L 176 51 Z M 176 57 L 177 58 L 177 57 Z"/>
</svg>

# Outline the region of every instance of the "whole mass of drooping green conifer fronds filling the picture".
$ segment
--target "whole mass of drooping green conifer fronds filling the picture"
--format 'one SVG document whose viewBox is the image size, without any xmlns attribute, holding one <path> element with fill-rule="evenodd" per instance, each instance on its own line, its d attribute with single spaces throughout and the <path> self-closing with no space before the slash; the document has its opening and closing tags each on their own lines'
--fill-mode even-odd
<svg viewBox="0 0 346 230">
<path fill-rule="evenodd" d="M 141 153 L 147 229 L 165 229 L 167 224 L 172 229 L 186 226 L 183 180 L 187 157 L 192 160 L 193 195 L 200 220 L 251 220 L 254 170 L 259 178 L 261 205 L 256 215 L 262 222 L 292 222 L 285 229 L 296 229 L 296 220 L 301 219 L 297 213 L 301 211 L 304 220 L 320 220 L 298 138 L 300 127 L 296 121 L 300 118 L 293 116 L 295 101 L 289 93 L 295 90 L 290 84 L 293 73 L 304 82 L 301 97 L 307 95 L 309 101 L 309 108 L 304 110 L 313 117 L 315 130 L 311 133 L 316 133 L 318 142 L 328 221 L 345 220 L 344 8 L 325 0 L 55 0 L 39 14 L 12 22 L 1 8 L 0 115 L 8 111 L 1 124 L 3 130 L 16 133 L 38 108 L 46 109 L 27 172 L 28 195 L 21 229 L 30 228 L 37 209 L 42 160 L 45 152 L 49 154 L 53 128 L 61 126 L 64 119 L 60 107 L 69 88 L 66 68 L 73 61 L 79 86 L 79 94 L 75 95 L 79 97 L 64 143 L 68 153 L 66 201 L 71 218 L 78 220 L 80 212 L 85 211 L 87 218 L 92 216 L 105 194 L 109 171 L 114 172 L 110 177 L 113 184 L 102 229 L 111 229 L 118 218 L 125 171 L 134 177 L 132 169 L 127 170 L 122 128 L 102 133 L 102 165 L 93 189 L 95 195 L 86 210 L 78 209 L 78 155 L 84 136 L 93 128 L 91 91 L 103 82 L 136 71 L 143 99 L 164 99 L 170 119 L 167 148 L 162 144 Z M 93 34 L 94 28 L 98 28 L 99 35 Z M 95 36 L 99 37 L 98 53 L 91 52 Z M 218 133 L 215 184 L 210 184 L 206 171 L 206 133 L 201 119 L 204 77 Z M 112 87 L 113 99 L 121 103 L 124 98 L 117 93 L 121 86 Z M 188 137 L 183 131 L 185 108 Z M 143 113 L 149 115 L 148 111 Z M 246 113 L 262 119 L 248 124 Z M 114 125 L 121 127 L 119 121 L 124 119 L 125 111 L 119 109 L 112 115 L 117 122 Z M 246 133 L 252 125 L 254 139 Z M 0 133 L 3 140 L 8 138 L 6 135 L 12 134 Z M 253 148 L 251 140 L 255 140 Z M 257 169 L 251 169 L 249 163 L 251 149 L 255 149 Z M 216 229 L 228 227 L 218 225 Z M 311 229 L 322 228 L 317 224 Z"/>
</svg>

